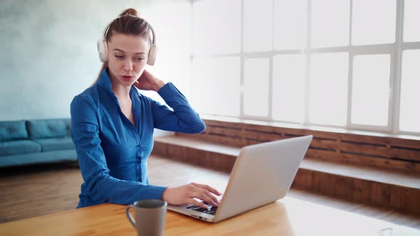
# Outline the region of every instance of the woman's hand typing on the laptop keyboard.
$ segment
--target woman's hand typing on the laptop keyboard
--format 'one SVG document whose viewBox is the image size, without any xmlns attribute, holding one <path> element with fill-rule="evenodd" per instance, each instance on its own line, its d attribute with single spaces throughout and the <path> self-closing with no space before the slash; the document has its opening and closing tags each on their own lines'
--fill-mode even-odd
<svg viewBox="0 0 420 236">
<path fill-rule="evenodd" d="M 208 208 L 206 204 L 201 203 L 194 198 L 199 198 L 214 206 L 219 205 L 219 200 L 211 193 L 221 195 L 219 191 L 216 191 L 216 189 L 211 188 L 210 186 L 199 183 L 189 183 L 176 188 L 167 188 L 162 194 L 162 200 L 166 200 L 167 203 L 172 205 L 192 204 L 201 208 Z"/>
</svg>

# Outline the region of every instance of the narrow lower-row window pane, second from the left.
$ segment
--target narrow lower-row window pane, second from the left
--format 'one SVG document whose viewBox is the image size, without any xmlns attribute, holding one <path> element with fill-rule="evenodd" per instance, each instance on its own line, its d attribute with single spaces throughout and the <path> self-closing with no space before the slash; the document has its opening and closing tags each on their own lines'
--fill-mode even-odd
<svg viewBox="0 0 420 236">
<path fill-rule="evenodd" d="M 245 60 L 243 113 L 268 116 L 268 58 Z"/>
</svg>

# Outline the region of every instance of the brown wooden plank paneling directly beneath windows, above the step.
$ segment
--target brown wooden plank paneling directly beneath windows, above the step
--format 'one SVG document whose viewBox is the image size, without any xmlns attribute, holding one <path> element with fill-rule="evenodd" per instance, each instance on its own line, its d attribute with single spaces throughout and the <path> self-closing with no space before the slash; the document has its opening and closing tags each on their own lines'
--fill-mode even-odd
<svg viewBox="0 0 420 236">
<path fill-rule="evenodd" d="M 313 135 L 308 156 L 325 161 L 342 162 L 420 173 L 420 140 L 371 136 L 310 129 L 273 127 L 204 120 L 206 130 L 194 138 L 231 146 L 246 146 L 293 136 Z M 178 134 L 190 136 L 189 134 Z"/>
</svg>

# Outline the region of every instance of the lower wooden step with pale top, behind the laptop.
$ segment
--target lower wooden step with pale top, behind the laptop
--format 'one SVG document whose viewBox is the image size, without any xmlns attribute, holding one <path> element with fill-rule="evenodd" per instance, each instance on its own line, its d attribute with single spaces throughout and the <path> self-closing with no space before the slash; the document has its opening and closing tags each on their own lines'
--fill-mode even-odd
<svg viewBox="0 0 420 236">
<path fill-rule="evenodd" d="M 240 148 L 192 136 L 159 136 L 152 154 L 229 173 Z M 420 175 L 305 157 L 292 188 L 420 215 Z"/>
</svg>

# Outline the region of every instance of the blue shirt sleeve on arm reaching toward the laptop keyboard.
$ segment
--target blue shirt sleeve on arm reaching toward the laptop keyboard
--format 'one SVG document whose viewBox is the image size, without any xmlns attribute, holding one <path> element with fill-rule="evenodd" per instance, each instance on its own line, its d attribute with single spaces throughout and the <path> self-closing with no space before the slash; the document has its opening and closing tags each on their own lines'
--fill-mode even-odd
<svg viewBox="0 0 420 236">
<path fill-rule="evenodd" d="M 98 109 L 91 97 L 76 96 L 70 104 L 71 136 L 78 155 L 85 191 L 96 203 L 132 204 L 136 200 L 161 199 L 166 187 L 110 176 L 100 146 Z"/>
</svg>

